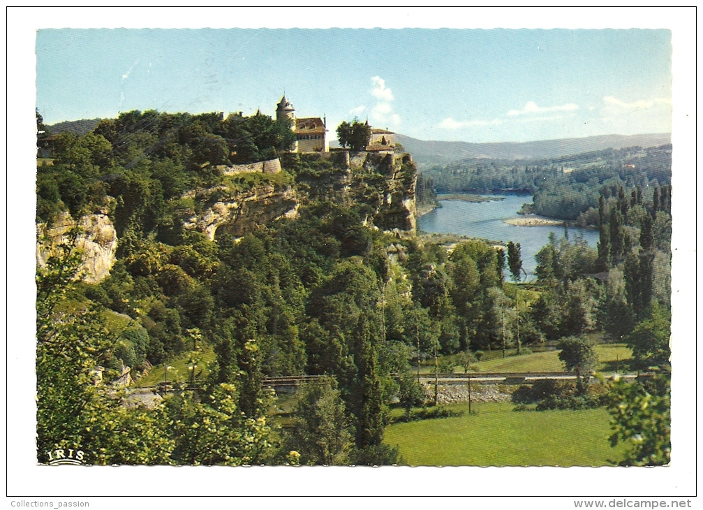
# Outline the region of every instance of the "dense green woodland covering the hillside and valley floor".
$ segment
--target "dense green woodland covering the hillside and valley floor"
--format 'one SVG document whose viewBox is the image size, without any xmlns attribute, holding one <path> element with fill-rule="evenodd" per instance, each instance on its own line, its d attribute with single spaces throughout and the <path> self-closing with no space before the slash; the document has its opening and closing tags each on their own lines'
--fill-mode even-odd
<svg viewBox="0 0 703 510">
<path fill-rule="evenodd" d="M 101 283 L 75 281 L 79 256 L 67 246 L 37 272 L 40 456 L 83 445 L 96 464 L 394 464 L 389 408 L 397 402 L 410 416 L 423 403 L 412 364 L 430 359 L 437 372 L 441 356 L 454 356 L 467 371 L 484 351 L 561 340 L 560 359 L 586 373 L 578 338 L 604 331 L 640 366 L 666 365 L 670 186 L 649 191 L 647 181 L 628 193 L 623 176 L 587 179 L 602 193 L 598 251 L 552 236 L 536 256 L 538 280 L 506 283 L 506 262 L 520 280 L 519 245 L 384 232 L 392 222 L 373 221 L 392 191 L 388 160 L 369 156 L 373 165 L 349 170 L 334 154 L 286 154 L 291 142 L 289 125 L 260 113 L 129 112 L 58 136 L 53 164 L 37 170 L 37 220 L 100 211 L 119 242 Z M 280 174 L 222 175 L 223 165 L 278 154 Z M 579 172 L 555 179 L 580 185 Z M 406 158 L 395 182 L 411 189 L 415 177 Z M 423 200 L 434 200 L 432 179 L 418 180 Z M 262 183 L 295 188 L 297 219 L 214 241 L 183 228 L 217 193 Z M 202 189 L 215 198 L 192 192 Z M 129 327 L 108 329 L 112 312 Z M 205 348 L 215 357 L 207 366 Z M 123 365 L 137 375 L 162 364 L 168 375 L 174 359 L 187 360 L 187 387 L 157 409 L 122 405 L 109 384 Z M 301 374 L 324 377 L 277 431 L 264 378 Z"/>
</svg>

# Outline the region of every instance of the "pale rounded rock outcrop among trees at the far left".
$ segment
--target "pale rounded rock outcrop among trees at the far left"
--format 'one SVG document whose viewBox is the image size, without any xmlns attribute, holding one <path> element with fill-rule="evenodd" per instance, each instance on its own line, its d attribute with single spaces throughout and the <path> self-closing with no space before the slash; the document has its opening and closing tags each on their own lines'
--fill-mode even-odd
<svg viewBox="0 0 703 510">
<path fill-rule="evenodd" d="M 105 215 L 85 215 L 75 222 L 64 212 L 51 225 L 37 224 L 37 264 L 44 267 L 58 245 L 71 242 L 72 231 L 76 232 L 73 243 L 82 251 L 82 279 L 89 283 L 103 281 L 115 264 L 117 250 L 115 226 Z"/>
</svg>

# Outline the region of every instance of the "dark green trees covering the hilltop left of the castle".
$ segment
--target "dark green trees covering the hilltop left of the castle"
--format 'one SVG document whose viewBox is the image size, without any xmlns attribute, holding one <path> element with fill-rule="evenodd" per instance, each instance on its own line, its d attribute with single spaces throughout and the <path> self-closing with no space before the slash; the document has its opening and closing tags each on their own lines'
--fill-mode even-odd
<svg viewBox="0 0 703 510">
<path fill-rule="evenodd" d="M 276 157 L 294 136 L 289 125 L 261 113 L 224 118 L 155 110 L 103 119 L 83 136 L 62 132 L 52 142 L 51 164 L 37 168 L 37 220 L 61 210 L 74 217 L 110 210 L 118 236 L 128 225 L 163 234 L 178 228 L 187 205 L 173 199 L 220 184 L 218 165 Z"/>
</svg>

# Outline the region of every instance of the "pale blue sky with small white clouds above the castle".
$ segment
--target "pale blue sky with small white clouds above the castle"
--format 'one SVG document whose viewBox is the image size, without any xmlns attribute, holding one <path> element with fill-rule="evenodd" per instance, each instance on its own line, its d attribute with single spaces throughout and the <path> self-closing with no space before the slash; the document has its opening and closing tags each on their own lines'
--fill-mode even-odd
<svg viewBox="0 0 703 510">
<path fill-rule="evenodd" d="M 671 132 L 669 30 L 45 29 L 46 123 L 121 111 L 326 115 L 419 139 Z"/>
</svg>

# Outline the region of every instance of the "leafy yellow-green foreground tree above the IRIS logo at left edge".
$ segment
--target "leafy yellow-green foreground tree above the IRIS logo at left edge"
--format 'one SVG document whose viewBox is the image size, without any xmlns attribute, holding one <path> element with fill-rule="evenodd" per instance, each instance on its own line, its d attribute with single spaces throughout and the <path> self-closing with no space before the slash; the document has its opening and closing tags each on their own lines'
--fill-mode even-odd
<svg viewBox="0 0 703 510">
<path fill-rule="evenodd" d="M 101 383 L 115 339 L 101 310 L 75 299 L 81 258 L 72 243 L 37 269 L 37 458 L 57 448 L 86 450 L 86 464 L 170 464 L 174 442 L 162 409 L 122 407 Z M 101 376 L 98 376 L 101 374 Z"/>
</svg>

